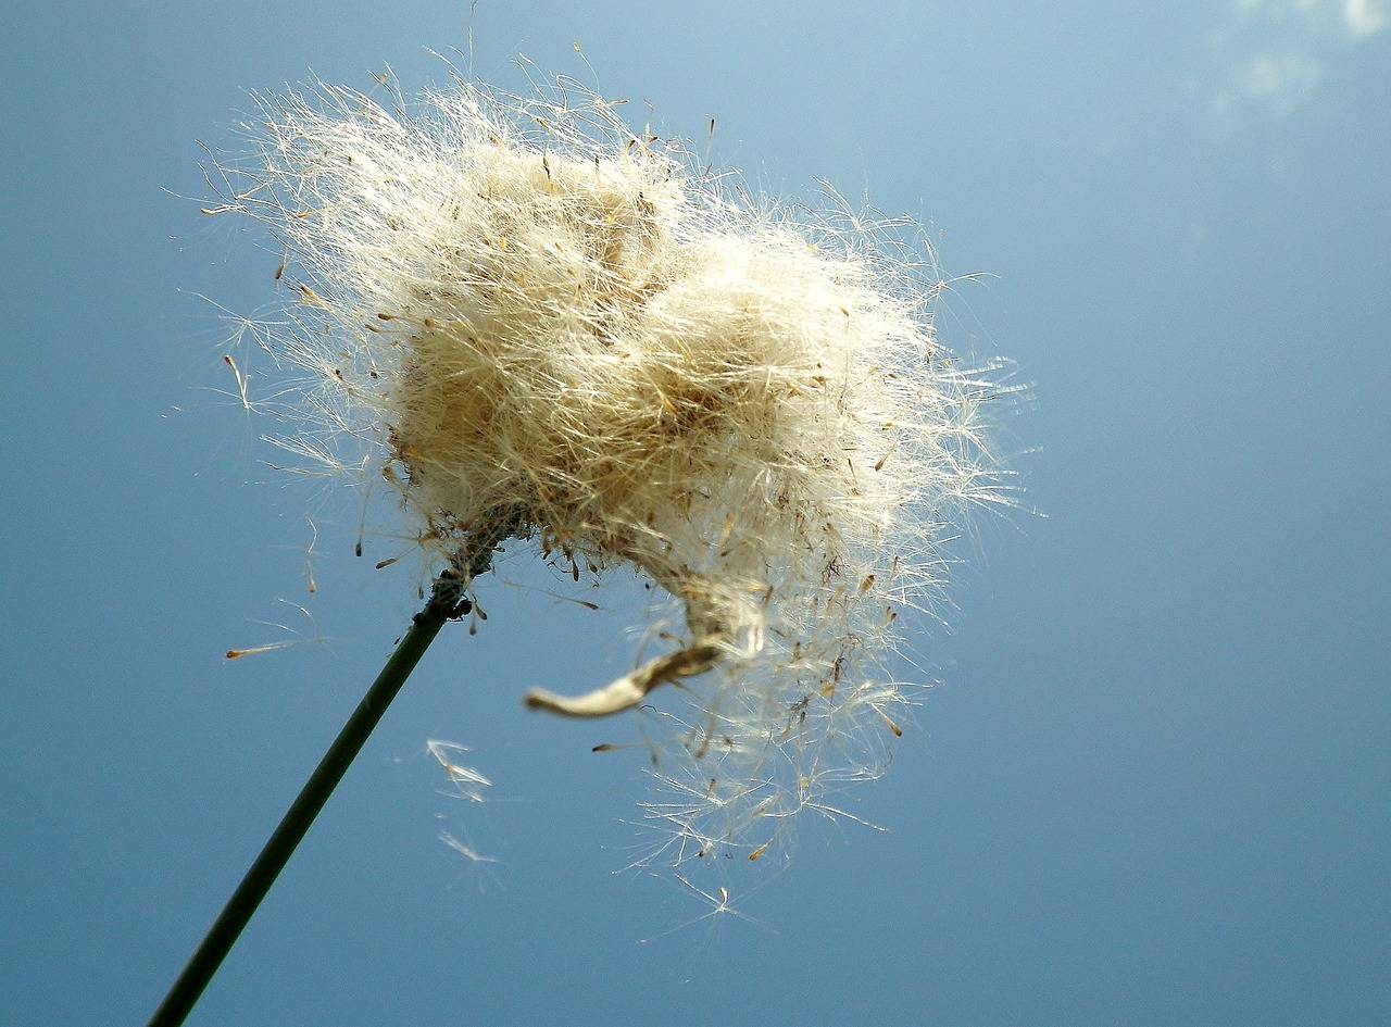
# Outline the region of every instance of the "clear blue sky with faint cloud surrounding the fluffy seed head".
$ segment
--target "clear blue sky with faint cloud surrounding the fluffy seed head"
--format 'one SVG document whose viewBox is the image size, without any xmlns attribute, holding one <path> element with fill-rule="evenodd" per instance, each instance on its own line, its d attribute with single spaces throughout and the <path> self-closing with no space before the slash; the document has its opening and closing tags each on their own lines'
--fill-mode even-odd
<svg viewBox="0 0 1391 1027">
<path fill-rule="evenodd" d="M 632 725 L 520 704 L 630 665 L 632 590 L 490 580 L 189 1023 L 1391 1023 L 1385 0 L 11 3 L 0 38 L 0 1020 L 143 1024 L 417 607 L 351 497 L 266 466 L 216 305 L 275 256 L 199 216 L 199 143 L 435 50 L 919 218 L 943 341 L 1031 387 L 999 438 L 1047 516 L 982 515 L 914 628 L 939 683 L 844 800 L 887 831 L 689 885 L 623 871 L 645 756 L 590 749 Z"/>
</svg>

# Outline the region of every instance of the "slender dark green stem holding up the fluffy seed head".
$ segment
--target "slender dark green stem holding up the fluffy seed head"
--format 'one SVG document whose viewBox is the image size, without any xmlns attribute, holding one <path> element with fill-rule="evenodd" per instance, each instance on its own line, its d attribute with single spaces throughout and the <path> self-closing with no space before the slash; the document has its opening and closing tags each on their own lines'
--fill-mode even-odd
<svg viewBox="0 0 1391 1027">
<path fill-rule="evenodd" d="M 485 550 L 485 555 L 491 558 L 491 547 Z M 466 572 L 474 568 L 466 568 Z M 285 868 L 295 846 L 303 839 L 309 825 L 314 822 L 314 817 L 319 815 L 334 788 L 342 781 L 349 764 L 362 750 L 367 736 L 371 735 L 387 707 L 391 706 L 391 700 L 401 692 L 401 686 L 406 683 L 406 678 L 420 662 L 420 657 L 434 642 L 444 622 L 456 610 L 466 612 L 462 589 L 460 576 L 455 572 L 445 572 L 435 582 L 430 601 L 424 610 L 416 614 L 410 630 L 402 636 L 387 665 L 377 675 L 377 680 L 363 696 L 353 715 L 348 718 L 344 729 L 338 732 L 338 738 L 324 753 L 324 758 L 305 783 L 299 797 L 295 799 L 284 820 L 280 821 L 280 827 L 266 842 L 262 854 L 256 857 L 252 868 L 246 871 L 246 877 L 232 892 L 232 898 L 228 899 L 202 945 L 193 952 L 184 973 L 174 981 L 174 987 L 170 988 L 170 994 L 160 1003 L 160 1008 L 154 1010 L 149 1027 L 178 1027 L 188 1017 L 193 1003 L 198 1002 L 207 982 L 213 980 L 213 974 L 217 973 L 217 967 L 221 966 L 242 928 L 252 918 L 260 900 L 266 898 L 280 871 Z"/>
</svg>

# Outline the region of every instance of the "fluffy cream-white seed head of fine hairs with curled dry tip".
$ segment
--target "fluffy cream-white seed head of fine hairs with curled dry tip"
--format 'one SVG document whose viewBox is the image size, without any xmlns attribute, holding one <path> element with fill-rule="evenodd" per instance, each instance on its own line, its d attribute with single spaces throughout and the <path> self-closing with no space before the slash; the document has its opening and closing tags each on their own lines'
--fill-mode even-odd
<svg viewBox="0 0 1391 1027">
<path fill-rule="evenodd" d="M 1000 498 L 993 390 L 939 348 L 901 225 L 753 200 L 613 107 L 566 81 L 455 82 L 415 114 L 267 97 L 218 210 L 288 253 L 267 345 L 310 383 L 285 445 L 385 477 L 433 564 L 515 537 L 673 597 L 665 654 L 526 701 L 658 707 L 652 857 L 758 857 L 882 770 L 894 618 Z"/>
</svg>

